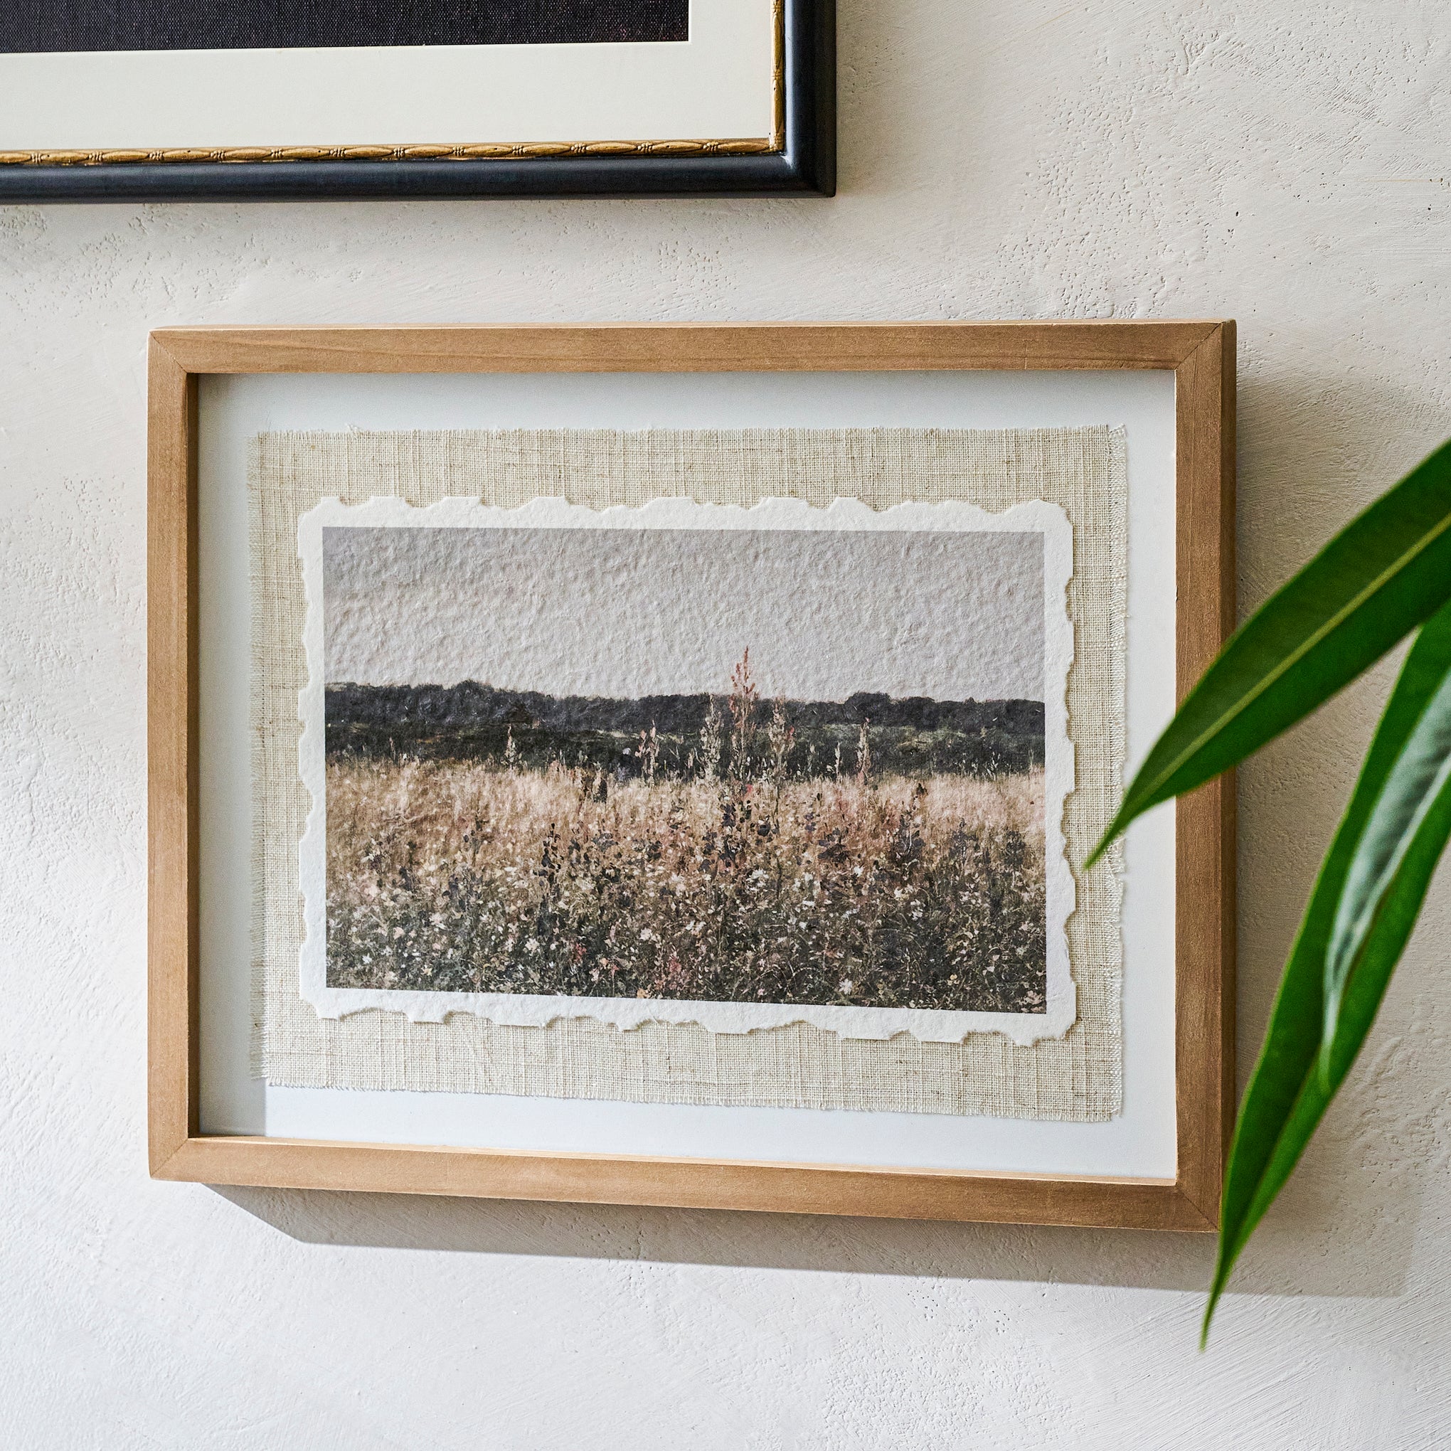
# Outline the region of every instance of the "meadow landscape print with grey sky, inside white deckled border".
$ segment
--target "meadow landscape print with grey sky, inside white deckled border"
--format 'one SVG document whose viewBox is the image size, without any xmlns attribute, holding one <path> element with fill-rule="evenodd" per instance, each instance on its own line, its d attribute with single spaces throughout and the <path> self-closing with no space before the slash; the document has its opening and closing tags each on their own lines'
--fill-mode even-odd
<svg viewBox="0 0 1451 1451">
<path fill-rule="evenodd" d="M 1046 1013 L 1042 534 L 322 560 L 329 990 Z"/>
</svg>

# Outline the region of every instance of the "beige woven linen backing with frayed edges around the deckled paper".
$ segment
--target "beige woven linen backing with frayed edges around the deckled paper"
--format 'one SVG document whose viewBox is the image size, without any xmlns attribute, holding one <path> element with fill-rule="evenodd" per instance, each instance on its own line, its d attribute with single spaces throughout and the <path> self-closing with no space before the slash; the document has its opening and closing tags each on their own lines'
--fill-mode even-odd
<svg viewBox="0 0 1451 1451">
<path fill-rule="evenodd" d="M 408 1088 L 640 1103 L 856 1109 L 1096 1122 L 1122 1103 L 1122 858 L 1075 872 L 1068 945 L 1078 1022 L 1020 1048 L 1000 1035 L 923 1043 L 844 1039 L 792 1024 L 710 1033 L 589 1017 L 508 1027 L 456 1013 L 319 1019 L 302 1001 L 297 773 L 306 599 L 297 519 L 322 498 L 447 496 L 517 506 L 562 495 L 591 508 L 653 498 L 752 505 L 837 496 L 889 508 L 962 499 L 990 511 L 1046 499 L 1074 530 L 1077 789 L 1064 830 L 1084 859 L 1110 818 L 1125 757 L 1126 450 L 1122 429 L 515 429 L 277 432 L 252 443 L 248 515 L 252 640 L 254 1068 L 270 1084 Z"/>
</svg>

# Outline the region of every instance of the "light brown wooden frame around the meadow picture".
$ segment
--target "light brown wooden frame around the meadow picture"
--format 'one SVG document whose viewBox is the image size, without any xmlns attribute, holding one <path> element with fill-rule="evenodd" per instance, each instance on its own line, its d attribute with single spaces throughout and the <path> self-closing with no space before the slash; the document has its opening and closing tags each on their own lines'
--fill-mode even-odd
<svg viewBox="0 0 1451 1451">
<path fill-rule="evenodd" d="M 149 1146 L 155 1178 L 490 1199 L 1210 1230 L 1235 1107 L 1232 776 L 1175 805 L 1174 1180 L 332 1143 L 199 1130 L 197 379 L 205 373 L 1167 369 L 1177 688 L 1235 614 L 1235 324 L 165 328 L 148 424 Z"/>
</svg>

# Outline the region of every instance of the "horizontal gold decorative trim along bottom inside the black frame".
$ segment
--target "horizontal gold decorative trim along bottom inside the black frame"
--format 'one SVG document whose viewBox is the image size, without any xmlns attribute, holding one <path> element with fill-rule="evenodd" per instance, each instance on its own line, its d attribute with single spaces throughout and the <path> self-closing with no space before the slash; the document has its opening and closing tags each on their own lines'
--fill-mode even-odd
<svg viewBox="0 0 1451 1451">
<path fill-rule="evenodd" d="M 508 161 L 535 157 L 737 157 L 782 149 L 782 136 L 737 141 L 527 141 L 377 147 L 167 147 L 157 151 L 0 151 L 0 165 L 107 167 L 160 161 Z"/>
</svg>

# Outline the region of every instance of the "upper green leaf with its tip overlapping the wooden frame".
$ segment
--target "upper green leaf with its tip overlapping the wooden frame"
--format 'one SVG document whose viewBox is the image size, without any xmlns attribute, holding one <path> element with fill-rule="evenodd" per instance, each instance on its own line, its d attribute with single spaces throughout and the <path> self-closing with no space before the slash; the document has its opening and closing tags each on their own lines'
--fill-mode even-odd
<svg viewBox="0 0 1451 1451">
<path fill-rule="evenodd" d="M 1091 865 L 1136 815 L 1236 765 L 1451 599 L 1451 443 L 1268 599 L 1185 696 Z"/>
</svg>

